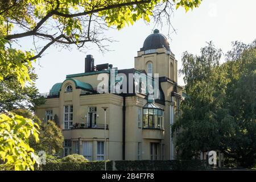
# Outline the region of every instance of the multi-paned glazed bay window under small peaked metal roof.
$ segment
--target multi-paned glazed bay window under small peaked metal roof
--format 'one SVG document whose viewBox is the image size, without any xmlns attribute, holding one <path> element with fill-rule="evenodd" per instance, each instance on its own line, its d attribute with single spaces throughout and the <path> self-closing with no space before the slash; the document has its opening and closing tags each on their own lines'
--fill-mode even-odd
<svg viewBox="0 0 256 182">
<path fill-rule="evenodd" d="M 164 111 L 161 109 L 143 109 L 143 128 L 163 129 Z"/>
</svg>

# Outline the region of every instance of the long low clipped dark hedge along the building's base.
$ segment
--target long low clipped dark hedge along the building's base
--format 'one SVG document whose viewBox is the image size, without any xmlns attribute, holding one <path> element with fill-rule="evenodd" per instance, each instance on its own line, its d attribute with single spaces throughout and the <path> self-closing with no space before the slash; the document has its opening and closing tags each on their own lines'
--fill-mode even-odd
<svg viewBox="0 0 256 182">
<path fill-rule="evenodd" d="M 107 161 L 108 171 L 167 171 L 167 170 L 207 170 L 209 165 L 202 160 L 118 160 Z M 50 162 L 37 170 L 42 171 L 101 171 L 104 161 L 94 162 Z"/>
</svg>

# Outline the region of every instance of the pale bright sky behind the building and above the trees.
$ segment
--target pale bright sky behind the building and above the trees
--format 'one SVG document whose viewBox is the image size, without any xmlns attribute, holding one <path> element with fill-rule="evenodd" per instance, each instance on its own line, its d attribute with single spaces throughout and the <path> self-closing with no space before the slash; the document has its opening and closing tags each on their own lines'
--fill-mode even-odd
<svg viewBox="0 0 256 182">
<path fill-rule="evenodd" d="M 184 51 L 199 54 L 200 48 L 210 40 L 224 52 L 231 48 L 234 40 L 251 43 L 256 38 L 255 7 L 255 0 L 203 0 L 198 9 L 188 13 L 184 9 L 176 10 L 172 17 L 176 34 L 171 34 L 169 43 L 178 61 L 178 69 L 181 68 L 181 55 Z M 118 69 L 134 68 L 134 57 L 137 56 L 144 39 L 152 33 L 153 27 L 153 23 L 146 25 L 139 21 L 120 31 L 109 30 L 106 36 L 118 42 L 109 43 L 109 49 L 113 51 L 104 55 L 94 46 L 85 49 L 86 53 L 75 48 L 72 51 L 60 51 L 59 48 L 50 47 L 35 64 L 39 92 L 49 92 L 52 85 L 63 82 L 66 75 L 84 72 L 86 54 L 94 56 L 95 65 L 109 63 Z M 165 25 L 155 28 L 167 35 L 168 27 Z M 184 85 L 182 77 L 179 77 L 178 84 Z"/>
</svg>

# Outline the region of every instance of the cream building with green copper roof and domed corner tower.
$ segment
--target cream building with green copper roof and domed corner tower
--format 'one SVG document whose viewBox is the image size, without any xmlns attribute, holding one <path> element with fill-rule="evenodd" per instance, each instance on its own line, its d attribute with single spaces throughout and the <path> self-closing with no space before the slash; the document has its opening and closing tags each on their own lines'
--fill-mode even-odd
<svg viewBox="0 0 256 182">
<path fill-rule="evenodd" d="M 108 63 L 94 67 L 93 56 L 87 55 L 84 73 L 67 75 L 44 94 L 46 104 L 37 107 L 36 115 L 59 123 L 65 138 L 62 155 L 104 160 L 106 137 L 109 160 L 176 158 L 170 126 L 179 113 L 182 87 L 167 38 L 155 30 L 144 40 L 134 65 L 121 70 Z M 154 73 L 159 73 L 157 81 Z M 158 86 L 157 97 L 150 97 L 148 85 Z M 127 92 L 116 92 L 125 86 Z M 106 125 L 102 107 L 107 107 Z"/>
</svg>

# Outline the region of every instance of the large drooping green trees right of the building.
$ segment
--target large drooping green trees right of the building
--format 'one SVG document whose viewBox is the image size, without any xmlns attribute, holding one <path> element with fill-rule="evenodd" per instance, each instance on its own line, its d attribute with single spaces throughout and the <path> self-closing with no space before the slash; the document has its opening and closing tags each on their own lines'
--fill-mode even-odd
<svg viewBox="0 0 256 182">
<path fill-rule="evenodd" d="M 200 56 L 183 53 L 185 92 L 182 114 L 172 127 L 181 128 L 176 147 L 190 159 L 199 151 L 220 150 L 252 166 L 256 159 L 255 68 L 256 41 L 233 43 L 220 64 L 222 52 L 210 42 Z"/>
</svg>

